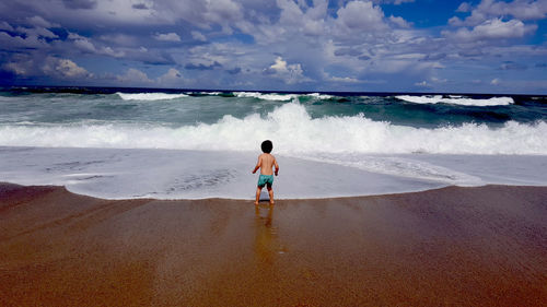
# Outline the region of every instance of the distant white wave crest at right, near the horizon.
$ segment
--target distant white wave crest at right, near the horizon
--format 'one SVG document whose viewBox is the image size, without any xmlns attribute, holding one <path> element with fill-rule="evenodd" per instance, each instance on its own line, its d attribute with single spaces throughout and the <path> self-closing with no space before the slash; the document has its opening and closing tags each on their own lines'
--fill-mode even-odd
<svg viewBox="0 0 547 307">
<path fill-rule="evenodd" d="M 507 106 L 514 104 L 514 101 L 511 97 L 491 97 L 488 99 L 473 99 L 455 95 L 451 95 L 447 98 L 441 95 L 434 95 L 434 96 L 400 95 L 400 96 L 395 96 L 395 98 L 415 104 L 452 104 L 452 105 L 479 106 L 479 107 Z"/>
</svg>

